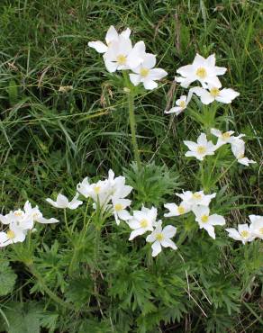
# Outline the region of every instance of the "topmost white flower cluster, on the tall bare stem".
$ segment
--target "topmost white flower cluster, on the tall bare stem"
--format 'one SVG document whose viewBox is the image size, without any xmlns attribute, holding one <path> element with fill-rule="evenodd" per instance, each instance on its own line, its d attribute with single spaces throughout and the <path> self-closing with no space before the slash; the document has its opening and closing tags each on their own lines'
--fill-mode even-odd
<svg viewBox="0 0 263 333">
<path fill-rule="evenodd" d="M 168 73 L 162 68 L 154 68 L 156 56 L 146 52 L 144 41 L 138 41 L 132 47 L 131 30 L 128 28 L 121 33 L 111 26 L 106 33 L 104 42 L 89 41 L 88 46 L 104 54 L 106 69 L 113 73 L 116 70 L 132 70 L 130 80 L 133 85 L 142 83 L 145 89 L 151 90 L 158 86 L 155 81 Z"/>
</svg>

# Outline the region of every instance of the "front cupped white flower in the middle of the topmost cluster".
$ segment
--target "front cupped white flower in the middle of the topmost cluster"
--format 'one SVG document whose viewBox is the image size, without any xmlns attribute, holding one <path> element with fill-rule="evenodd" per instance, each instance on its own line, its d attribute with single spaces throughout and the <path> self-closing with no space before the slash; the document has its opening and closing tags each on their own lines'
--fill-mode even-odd
<svg viewBox="0 0 263 333">
<path fill-rule="evenodd" d="M 104 64 L 110 73 L 116 70 L 132 69 L 141 64 L 144 53 L 145 45 L 142 40 L 132 48 L 132 41 L 120 36 L 118 40 L 112 41 L 104 53 Z"/>
</svg>

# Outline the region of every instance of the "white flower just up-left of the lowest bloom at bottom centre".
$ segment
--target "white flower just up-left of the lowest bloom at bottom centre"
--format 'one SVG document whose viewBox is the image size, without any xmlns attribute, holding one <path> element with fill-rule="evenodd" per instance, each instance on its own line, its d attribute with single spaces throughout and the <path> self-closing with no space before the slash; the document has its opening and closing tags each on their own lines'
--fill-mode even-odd
<svg viewBox="0 0 263 333">
<path fill-rule="evenodd" d="M 127 221 L 129 227 L 133 229 L 129 240 L 132 240 L 147 231 L 153 231 L 156 218 L 157 209 L 155 207 L 151 207 L 151 209 L 142 207 L 141 211 L 133 211 L 132 219 Z"/>
</svg>

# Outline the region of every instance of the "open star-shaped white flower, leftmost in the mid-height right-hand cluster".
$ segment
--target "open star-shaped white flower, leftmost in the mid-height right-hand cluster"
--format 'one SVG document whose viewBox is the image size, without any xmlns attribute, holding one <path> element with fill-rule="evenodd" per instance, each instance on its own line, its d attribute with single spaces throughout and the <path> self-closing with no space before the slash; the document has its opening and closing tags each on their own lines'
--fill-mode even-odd
<svg viewBox="0 0 263 333">
<path fill-rule="evenodd" d="M 212 141 L 207 141 L 204 133 L 200 134 L 197 143 L 194 141 L 184 141 L 184 143 L 190 149 L 186 152 L 186 157 L 195 157 L 200 161 L 203 161 L 206 155 L 213 155 L 214 151 L 218 148 L 213 145 Z"/>
</svg>

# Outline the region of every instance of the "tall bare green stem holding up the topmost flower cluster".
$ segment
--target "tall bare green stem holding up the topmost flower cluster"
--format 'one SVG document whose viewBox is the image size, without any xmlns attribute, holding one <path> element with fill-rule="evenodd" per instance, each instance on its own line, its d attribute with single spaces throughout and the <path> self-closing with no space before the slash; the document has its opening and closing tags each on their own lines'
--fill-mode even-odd
<svg viewBox="0 0 263 333">
<path fill-rule="evenodd" d="M 127 76 L 127 73 L 125 71 L 123 73 L 123 78 L 126 87 L 128 88 L 127 91 L 127 98 L 128 98 L 128 109 L 129 109 L 129 120 L 130 120 L 130 128 L 131 128 L 131 134 L 132 134 L 132 146 L 133 146 L 133 152 L 134 152 L 134 158 L 139 167 L 141 167 L 141 160 L 140 160 L 140 154 L 139 154 L 139 148 L 138 143 L 136 139 L 136 121 L 135 121 L 135 114 L 134 114 L 134 94 L 132 90 L 132 85 L 129 82 L 129 77 Z"/>
</svg>

